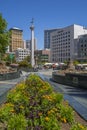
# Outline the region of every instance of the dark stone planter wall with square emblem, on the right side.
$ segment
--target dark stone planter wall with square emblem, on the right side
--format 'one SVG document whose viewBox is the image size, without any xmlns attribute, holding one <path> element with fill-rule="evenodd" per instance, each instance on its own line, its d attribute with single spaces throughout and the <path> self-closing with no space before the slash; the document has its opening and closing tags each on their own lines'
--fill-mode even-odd
<svg viewBox="0 0 87 130">
<path fill-rule="evenodd" d="M 75 87 L 81 87 L 81 88 L 87 88 L 87 74 L 78 74 L 78 73 L 66 73 L 65 75 L 57 74 L 56 72 L 52 73 L 52 79 L 53 81 L 75 86 Z"/>
</svg>

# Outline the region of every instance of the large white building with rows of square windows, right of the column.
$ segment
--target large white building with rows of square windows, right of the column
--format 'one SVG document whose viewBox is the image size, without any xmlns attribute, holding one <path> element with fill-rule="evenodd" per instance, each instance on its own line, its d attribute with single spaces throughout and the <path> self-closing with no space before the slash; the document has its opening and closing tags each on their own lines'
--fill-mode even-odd
<svg viewBox="0 0 87 130">
<path fill-rule="evenodd" d="M 75 58 L 75 39 L 87 34 L 87 28 L 71 25 L 50 34 L 51 62 L 65 62 Z"/>
</svg>

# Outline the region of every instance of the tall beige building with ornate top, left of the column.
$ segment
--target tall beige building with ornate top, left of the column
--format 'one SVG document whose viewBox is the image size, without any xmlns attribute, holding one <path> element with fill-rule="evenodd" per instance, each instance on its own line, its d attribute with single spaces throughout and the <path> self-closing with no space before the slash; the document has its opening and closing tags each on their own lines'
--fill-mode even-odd
<svg viewBox="0 0 87 130">
<path fill-rule="evenodd" d="M 9 46 L 9 51 L 10 52 L 15 52 L 18 48 L 24 48 L 23 45 L 23 38 L 22 38 L 22 33 L 23 30 L 19 28 L 11 28 L 11 40 L 10 40 L 10 46 Z"/>
</svg>

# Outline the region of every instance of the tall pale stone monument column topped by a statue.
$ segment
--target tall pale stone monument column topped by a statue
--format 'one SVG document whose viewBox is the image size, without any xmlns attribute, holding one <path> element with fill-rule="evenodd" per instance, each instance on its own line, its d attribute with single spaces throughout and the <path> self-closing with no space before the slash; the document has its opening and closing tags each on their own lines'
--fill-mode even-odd
<svg viewBox="0 0 87 130">
<path fill-rule="evenodd" d="M 31 26 L 30 26 L 30 30 L 31 30 L 31 65 L 32 67 L 34 67 L 35 65 L 35 61 L 34 61 L 34 25 L 33 25 L 34 21 L 32 19 L 31 21 Z"/>
</svg>

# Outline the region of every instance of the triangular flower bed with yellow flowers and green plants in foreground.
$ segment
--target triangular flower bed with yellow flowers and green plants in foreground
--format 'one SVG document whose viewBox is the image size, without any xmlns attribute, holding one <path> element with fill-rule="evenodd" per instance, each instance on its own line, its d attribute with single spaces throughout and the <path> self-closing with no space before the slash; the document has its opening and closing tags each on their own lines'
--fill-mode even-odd
<svg viewBox="0 0 87 130">
<path fill-rule="evenodd" d="M 37 75 L 16 85 L 0 108 L 0 130 L 61 130 L 61 123 L 70 124 L 70 130 L 87 130 L 74 121 L 63 95 Z"/>
</svg>

